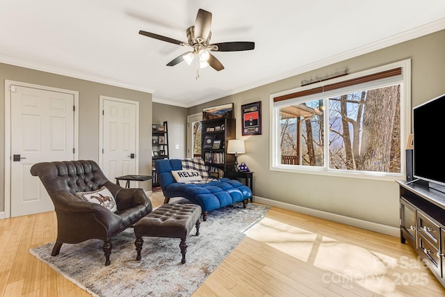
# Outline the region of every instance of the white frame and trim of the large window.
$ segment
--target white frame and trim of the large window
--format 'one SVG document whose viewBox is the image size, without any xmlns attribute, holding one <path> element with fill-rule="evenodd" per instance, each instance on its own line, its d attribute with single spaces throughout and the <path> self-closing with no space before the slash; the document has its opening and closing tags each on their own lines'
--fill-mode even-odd
<svg viewBox="0 0 445 297">
<path fill-rule="evenodd" d="M 348 81 L 350 79 L 355 79 L 358 77 L 364 77 L 370 74 L 375 74 L 377 72 L 383 72 L 386 70 L 391 70 L 396 67 L 402 68 L 402 79 L 399 78 L 389 78 L 382 79 L 371 83 L 361 83 L 355 86 L 347 86 L 346 88 L 339 88 L 337 90 L 327 91 L 325 93 L 318 93 L 313 95 L 307 95 L 297 98 L 291 98 L 282 100 L 280 102 L 274 102 L 275 97 L 290 95 L 292 93 L 298 93 L 305 90 L 310 90 L 313 88 L 319 88 L 327 84 L 339 83 L 342 81 Z M 387 84 L 391 81 L 401 81 L 401 172 L 369 172 L 369 171 L 357 171 L 357 170 L 339 170 L 329 168 L 329 156 L 328 150 L 324 150 L 325 166 L 304 166 L 304 165 L 286 165 L 281 164 L 281 149 L 280 149 L 280 106 L 288 105 L 296 102 L 307 102 L 314 99 L 325 99 L 328 96 L 342 95 L 345 93 L 350 93 L 351 90 L 365 90 L 366 86 L 373 85 L 375 83 Z M 302 86 L 299 88 L 293 88 L 291 90 L 284 90 L 280 93 L 270 94 L 270 158 L 269 158 L 269 170 L 272 171 L 282 171 L 282 172 L 296 172 L 304 174 L 314 174 L 314 175 L 328 175 L 336 177 L 353 177 L 362 179 L 378 179 L 378 180 L 397 180 L 405 178 L 406 171 L 406 159 L 405 159 L 405 143 L 410 135 L 411 131 L 411 59 L 398 61 L 396 63 L 390 63 L 387 65 L 382 65 L 380 67 L 374 67 L 369 70 L 364 70 L 354 74 L 348 74 L 346 76 L 338 77 L 335 79 L 329 79 L 327 81 L 321 81 L 319 83 L 312 83 L 307 86 Z M 329 106 L 325 106 L 327 111 Z M 323 115 L 326 116 L 327 115 Z M 325 131 L 328 131 L 329 122 L 325 118 Z M 328 133 L 325 133 L 325 143 L 329 137 Z"/>
</svg>

